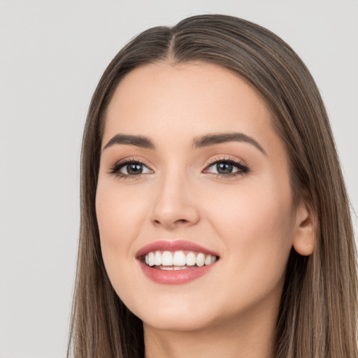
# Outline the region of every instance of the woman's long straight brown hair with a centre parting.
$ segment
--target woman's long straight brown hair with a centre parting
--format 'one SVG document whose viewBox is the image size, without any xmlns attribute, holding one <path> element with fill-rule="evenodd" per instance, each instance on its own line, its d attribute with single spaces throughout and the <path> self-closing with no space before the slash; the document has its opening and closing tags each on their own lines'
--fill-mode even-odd
<svg viewBox="0 0 358 358">
<path fill-rule="evenodd" d="M 317 217 L 317 245 L 292 249 L 276 324 L 277 358 L 353 358 L 357 354 L 357 271 L 350 206 L 324 104 L 296 53 L 257 24 L 198 15 L 144 31 L 110 62 L 85 124 L 81 224 L 68 357 L 143 357 L 143 325 L 110 285 L 103 265 L 95 195 L 106 108 L 120 80 L 153 62 L 202 61 L 247 80 L 271 109 L 285 144 L 296 202 Z"/>
</svg>

